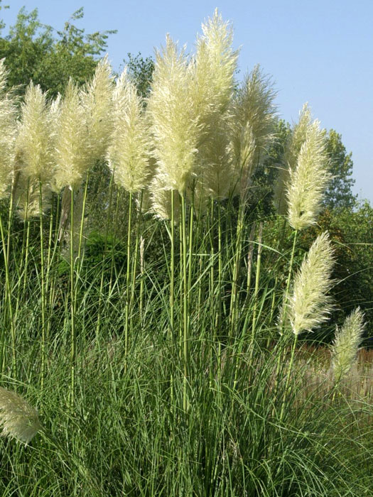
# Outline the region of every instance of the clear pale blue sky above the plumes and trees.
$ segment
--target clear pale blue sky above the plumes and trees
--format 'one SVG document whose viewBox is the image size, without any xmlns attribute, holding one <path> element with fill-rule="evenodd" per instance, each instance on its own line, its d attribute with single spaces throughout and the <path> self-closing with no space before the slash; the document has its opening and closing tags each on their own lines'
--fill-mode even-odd
<svg viewBox="0 0 373 497">
<path fill-rule="evenodd" d="M 128 52 L 153 54 L 170 33 L 193 47 L 200 23 L 217 6 L 234 26 L 242 73 L 260 63 L 274 77 L 283 119 L 309 102 L 323 127 L 342 133 L 354 160 L 355 192 L 373 203 L 373 0 L 3 0 L 14 23 L 21 6 L 63 28 L 81 6 L 87 33 L 117 29 L 108 41 L 118 69 Z"/>
</svg>

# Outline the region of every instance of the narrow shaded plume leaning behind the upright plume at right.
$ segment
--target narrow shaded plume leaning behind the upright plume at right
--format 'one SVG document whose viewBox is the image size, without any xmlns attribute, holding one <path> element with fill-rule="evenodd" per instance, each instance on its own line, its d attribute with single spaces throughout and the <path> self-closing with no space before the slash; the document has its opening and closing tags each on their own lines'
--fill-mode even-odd
<svg viewBox="0 0 373 497">
<path fill-rule="evenodd" d="M 299 121 L 293 126 L 291 136 L 289 136 L 279 176 L 274 187 L 274 203 L 279 214 L 286 214 L 288 201 L 286 199 L 286 186 L 289 182 L 289 171 L 296 168 L 299 152 L 303 143 L 306 141 L 308 130 L 312 124 L 312 116 L 308 104 L 304 104 L 299 113 Z"/>
</svg>

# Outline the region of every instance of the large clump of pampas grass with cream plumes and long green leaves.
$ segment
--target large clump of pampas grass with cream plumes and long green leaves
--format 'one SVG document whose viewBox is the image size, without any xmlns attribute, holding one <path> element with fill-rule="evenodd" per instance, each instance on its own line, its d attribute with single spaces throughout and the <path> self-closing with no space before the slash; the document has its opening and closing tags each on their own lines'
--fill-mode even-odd
<svg viewBox="0 0 373 497">
<path fill-rule="evenodd" d="M 236 92 L 236 62 L 231 28 L 216 11 L 195 55 L 168 38 L 146 102 L 126 73 L 114 88 L 107 60 L 83 89 L 70 81 L 52 103 L 33 87 L 45 102 L 36 119 L 50 123 L 55 198 L 45 210 L 48 181 L 39 181 L 37 204 L 34 175 L 27 186 L 18 176 L 10 200 L 23 207 L 27 192 L 39 217 L 23 226 L 11 205 L 8 226 L 0 217 L 0 366 L 3 382 L 31 386 L 45 427 L 26 400 L 0 388 L 4 435 L 26 444 L 42 435 L 26 449 L 1 442 L 4 497 L 369 495 L 372 386 L 359 366 L 347 373 L 338 365 L 353 362 L 359 312 L 335 339 L 336 349 L 350 344 L 333 359 L 344 375 L 337 403 L 328 361 L 299 359 L 298 337 L 325 325 L 332 307 L 328 234 L 293 275 L 298 229 L 315 222 L 320 202 L 321 186 L 305 200 L 305 216 L 313 159 L 318 178 L 328 175 L 323 133 L 303 109 L 285 159 L 289 256 L 280 218 L 257 219 L 246 203 L 252 172 L 276 138 L 274 90 L 255 68 Z M 0 67 L 0 97 L 11 102 L 1 92 Z M 18 143 L 27 143 L 23 131 Z M 38 164 L 31 147 L 23 150 L 25 164 Z M 114 172 L 109 195 L 99 192 L 107 223 L 87 234 L 84 250 L 97 192 L 89 171 L 102 158 Z M 110 171 L 100 172 L 109 182 Z M 143 216 L 144 187 L 153 207 Z"/>
</svg>

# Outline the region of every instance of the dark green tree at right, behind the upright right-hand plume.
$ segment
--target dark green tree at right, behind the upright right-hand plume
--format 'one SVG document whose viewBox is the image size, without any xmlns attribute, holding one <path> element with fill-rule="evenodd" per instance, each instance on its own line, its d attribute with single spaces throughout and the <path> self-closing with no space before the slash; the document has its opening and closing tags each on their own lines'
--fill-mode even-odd
<svg viewBox="0 0 373 497">
<path fill-rule="evenodd" d="M 352 176 L 352 153 L 347 153 L 342 143 L 342 136 L 334 129 L 327 135 L 327 151 L 330 157 L 330 168 L 333 179 L 325 192 L 325 207 L 340 209 L 353 207 L 357 195 L 352 193 L 355 180 Z"/>
</svg>

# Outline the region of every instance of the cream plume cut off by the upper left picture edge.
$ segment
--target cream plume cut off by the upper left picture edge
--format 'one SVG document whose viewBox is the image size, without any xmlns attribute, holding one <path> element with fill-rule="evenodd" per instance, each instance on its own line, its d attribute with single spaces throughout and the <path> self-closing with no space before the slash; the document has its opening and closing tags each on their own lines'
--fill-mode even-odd
<svg viewBox="0 0 373 497">
<path fill-rule="evenodd" d="M 14 173 L 16 125 L 16 98 L 6 92 L 8 71 L 4 59 L 0 60 L 0 199 L 9 193 Z"/>
</svg>

